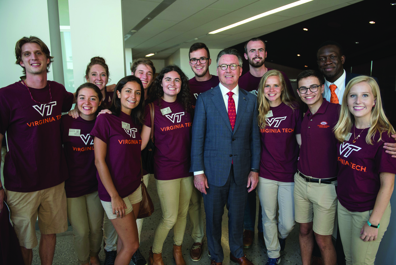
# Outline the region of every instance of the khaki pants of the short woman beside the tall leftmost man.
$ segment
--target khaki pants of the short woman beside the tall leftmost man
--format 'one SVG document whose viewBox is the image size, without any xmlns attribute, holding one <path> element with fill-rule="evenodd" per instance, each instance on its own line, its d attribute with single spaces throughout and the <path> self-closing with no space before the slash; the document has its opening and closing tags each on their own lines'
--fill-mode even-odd
<svg viewBox="0 0 396 265">
<path fill-rule="evenodd" d="M 103 238 L 103 207 L 98 192 L 67 198 L 67 217 L 73 227 L 73 243 L 78 262 L 88 263 L 89 257 L 99 254 Z"/>
</svg>

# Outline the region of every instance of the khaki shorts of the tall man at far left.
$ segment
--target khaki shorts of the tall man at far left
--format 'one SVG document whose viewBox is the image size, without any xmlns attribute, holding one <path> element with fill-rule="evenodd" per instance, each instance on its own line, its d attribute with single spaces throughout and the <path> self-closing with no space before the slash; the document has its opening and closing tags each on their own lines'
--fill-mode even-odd
<svg viewBox="0 0 396 265">
<path fill-rule="evenodd" d="M 42 234 L 57 234 L 67 230 L 65 182 L 35 192 L 6 190 L 6 197 L 19 245 L 28 249 L 37 246 L 37 216 Z"/>
</svg>

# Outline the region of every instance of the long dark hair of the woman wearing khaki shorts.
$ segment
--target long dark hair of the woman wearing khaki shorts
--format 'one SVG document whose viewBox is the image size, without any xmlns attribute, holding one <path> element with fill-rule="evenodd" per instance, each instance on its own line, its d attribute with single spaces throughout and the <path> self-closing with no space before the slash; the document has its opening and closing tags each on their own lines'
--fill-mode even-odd
<svg viewBox="0 0 396 265">
<path fill-rule="evenodd" d="M 111 101 L 111 106 L 109 110 L 112 112 L 113 115 L 116 115 L 117 117 L 121 113 L 121 100 L 118 98 L 117 91 L 120 91 L 126 83 L 128 82 L 135 82 L 139 84 L 141 88 L 141 97 L 140 97 L 140 102 L 136 106 L 136 108 L 132 109 L 131 112 L 131 117 L 133 122 L 135 122 L 137 125 L 143 124 L 143 121 L 145 119 L 145 90 L 143 89 L 143 84 L 142 81 L 140 81 L 139 77 L 136 77 L 135 75 L 128 75 L 126 77 L 123 77 L 118 83 L 116 84 L 116 87 L 114 88 L 114 95 L 113 95 L 113 100 Z"/>
</svg>

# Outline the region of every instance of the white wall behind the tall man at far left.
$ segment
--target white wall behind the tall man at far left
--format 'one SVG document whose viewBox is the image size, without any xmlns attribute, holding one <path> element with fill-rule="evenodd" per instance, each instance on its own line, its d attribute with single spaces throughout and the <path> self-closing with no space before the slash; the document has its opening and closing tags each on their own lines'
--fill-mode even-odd
<svg viewBox="0 0 396 265">
<path fill-rule="evenodd" d="M 0 87 L 4 87 L 23 75 L 22 67 L 15 64 L 15 43 L 20 38 L 38 36 L 51 51 L 47 0 L 0 0 L 0 25 L 0 50 L 4 53 L 0 64 Z M 52 66 L 47 78 L 53 80 Z"/>
</svg>

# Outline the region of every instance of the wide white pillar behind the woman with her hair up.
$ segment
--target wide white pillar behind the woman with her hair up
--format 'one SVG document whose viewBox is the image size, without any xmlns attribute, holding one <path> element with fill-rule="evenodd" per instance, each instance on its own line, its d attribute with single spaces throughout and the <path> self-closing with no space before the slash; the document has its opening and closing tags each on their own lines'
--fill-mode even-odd
<svg viewBox="0 0 396 265">
<path fill-rule="evenodd" d="M 89 12 L 95 7 L 105 13 Z M 98 9 L 99 10 L 99 9 Z M 84 82 L 87 64 L 94 56 L 105 58 L 111 83 L 126 75 L 124 35 L 122 33 L 121 0 L 69 0 L 74 86 Z"/>
</svg>

